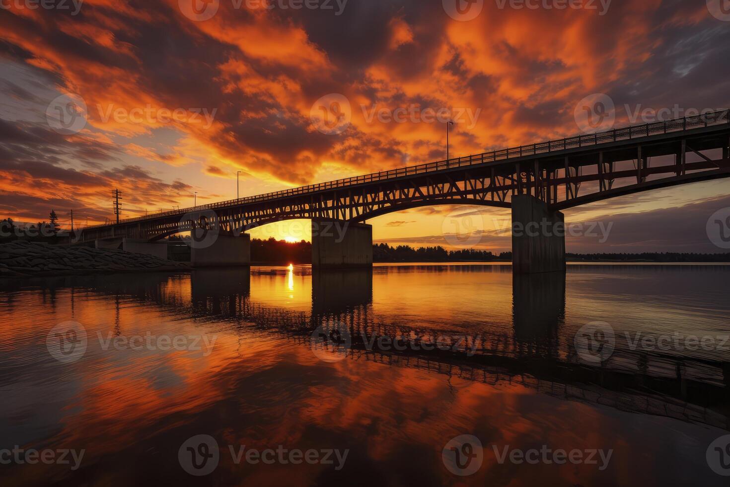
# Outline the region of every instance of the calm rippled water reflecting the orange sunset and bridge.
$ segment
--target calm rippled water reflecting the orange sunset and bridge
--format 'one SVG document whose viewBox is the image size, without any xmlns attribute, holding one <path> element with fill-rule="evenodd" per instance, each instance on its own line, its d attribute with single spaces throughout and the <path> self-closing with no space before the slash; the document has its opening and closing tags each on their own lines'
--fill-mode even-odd
<svg viewBox="0 0 730 487">
<path fill-rule="evenodd" d="M 727 486 L 729 278 L 408 264 L 1 283 L 0 483 Z"/>
</svg>

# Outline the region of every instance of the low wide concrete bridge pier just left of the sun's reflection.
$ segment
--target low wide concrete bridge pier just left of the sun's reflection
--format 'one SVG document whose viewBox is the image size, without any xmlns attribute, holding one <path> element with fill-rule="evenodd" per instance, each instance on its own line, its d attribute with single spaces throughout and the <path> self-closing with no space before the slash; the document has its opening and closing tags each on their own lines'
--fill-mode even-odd
<svg viewBox="0 0 730 487">
<path fill-rule="evenodd" d="M 191 242 L 190 261 L 193 267 L 250 266 L 251 237 L 218 234 Z"/>
</svg>

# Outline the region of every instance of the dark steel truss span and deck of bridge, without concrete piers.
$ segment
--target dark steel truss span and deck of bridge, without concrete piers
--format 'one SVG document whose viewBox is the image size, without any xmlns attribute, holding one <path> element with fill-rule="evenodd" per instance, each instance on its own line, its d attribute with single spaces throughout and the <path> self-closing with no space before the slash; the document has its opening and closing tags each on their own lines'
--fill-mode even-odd
<svg viewBox="0 0 730 487">
<path fill-rule="evenodd" d="M 291 188 L 82 230 L 83 241 L 154 241 L 193 228 L 239 232 L 275 221 L 362 222 L 439 204 L 510 207 L 529 194 L 552 210 L 730 176 L 729 110 L 627 126 Z"/>
</svg>

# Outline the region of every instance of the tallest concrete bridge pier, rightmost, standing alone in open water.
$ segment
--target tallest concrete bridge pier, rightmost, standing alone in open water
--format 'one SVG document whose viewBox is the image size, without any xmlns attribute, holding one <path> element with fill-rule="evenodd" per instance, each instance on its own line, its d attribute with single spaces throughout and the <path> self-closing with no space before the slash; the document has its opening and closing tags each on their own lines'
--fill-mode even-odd
<svg viewBox="0 0 730 487">
<path fill-rule="evenodd" d="M 565 270 L 565 218 L 534 196 L 512 196 L 512 272 Z"/>
</svg>

